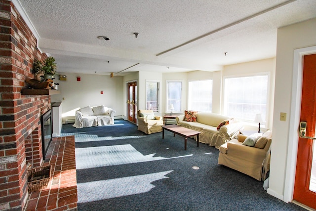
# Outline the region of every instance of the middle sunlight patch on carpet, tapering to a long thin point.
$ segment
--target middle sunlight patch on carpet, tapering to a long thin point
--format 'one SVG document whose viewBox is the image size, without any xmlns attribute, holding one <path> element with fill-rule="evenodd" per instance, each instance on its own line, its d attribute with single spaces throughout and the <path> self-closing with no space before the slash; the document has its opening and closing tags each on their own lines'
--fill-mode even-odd
<svg viewBox="0 0 316 211">
<path fill-rule="evenodd" d="M 154 157 L 155 154 L 144 156 L 130 144 L 76 148 L 76 169 L 90 169 L 192 156 L 191 154 L 164 158 Z"/>
</svg>

